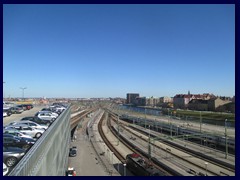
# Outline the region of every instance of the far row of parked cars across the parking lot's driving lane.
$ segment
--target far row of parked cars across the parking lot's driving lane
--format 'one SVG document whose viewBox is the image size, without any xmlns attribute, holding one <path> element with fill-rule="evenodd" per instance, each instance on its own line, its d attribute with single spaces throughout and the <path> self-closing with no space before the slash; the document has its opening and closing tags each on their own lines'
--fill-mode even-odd
<svg viewBox="0 0 240 180">
<path fill-rule="evenodd" d="M 14 106 L 3 106 L 3 117 L 11 116 L 12 114 L 20 114 L 23 111 L 33 108 L 32 104 L 20 104 Z"/>
</svg>

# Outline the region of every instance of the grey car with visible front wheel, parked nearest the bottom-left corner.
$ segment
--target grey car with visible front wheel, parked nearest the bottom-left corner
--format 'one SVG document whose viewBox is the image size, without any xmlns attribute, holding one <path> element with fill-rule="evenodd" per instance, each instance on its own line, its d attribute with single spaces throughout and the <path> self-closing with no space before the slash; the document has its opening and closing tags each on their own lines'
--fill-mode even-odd
<svg viewBox="0 0 240 180">
<path fill-rule="evenodd" d="M 5 147 L 3 146 L 3 162 L 8 167 L 13 167 L 17 162 L 25 155 L 23 149 L 17 147 Z"/>
</svg>

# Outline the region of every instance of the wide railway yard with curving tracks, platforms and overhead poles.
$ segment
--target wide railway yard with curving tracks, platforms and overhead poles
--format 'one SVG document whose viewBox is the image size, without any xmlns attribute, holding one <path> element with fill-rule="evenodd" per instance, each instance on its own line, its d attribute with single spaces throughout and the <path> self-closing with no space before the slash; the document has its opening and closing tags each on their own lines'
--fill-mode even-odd
<svg viewBox="0 0 240 180">
<path fill-rule="evenodd" d="M 199 133 L 196 124 L 184 123 L 97 109 L 78 124 L 72 146 L 82 145 L 69 166 L 74 166 L 79 176 L 235 176 L 235 129 L 227 129 L 229 135 L 224 136 L 224 127 L 205 125 Z M 218 136 L 227 138 L 227 147 L 219 139 L 215 141 Z M 88 149 L 83 149 L 83 143 Z M 92 160 L 84 160 L 89 152 Z"/>
</svg>

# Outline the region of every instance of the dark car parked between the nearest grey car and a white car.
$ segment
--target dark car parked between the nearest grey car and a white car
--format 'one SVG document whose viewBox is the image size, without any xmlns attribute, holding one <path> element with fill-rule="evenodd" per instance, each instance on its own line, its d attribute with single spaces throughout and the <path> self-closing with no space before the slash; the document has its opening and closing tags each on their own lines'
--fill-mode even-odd
<svg viewBox="0 0 240 180">
<path fill-rule="evenodd" d="M 3 145 L 5 147 L 19 147 L 28 150 L 34 143 L 34 140 L 19 138 L 11 134 L 3 134 Z"/>
</svg>

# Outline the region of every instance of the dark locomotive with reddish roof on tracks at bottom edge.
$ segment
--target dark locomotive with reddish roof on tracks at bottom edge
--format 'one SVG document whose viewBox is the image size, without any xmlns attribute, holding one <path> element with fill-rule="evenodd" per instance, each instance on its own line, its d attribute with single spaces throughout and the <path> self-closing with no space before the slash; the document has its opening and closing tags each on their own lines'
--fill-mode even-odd
<svg viewBox="0 0 240 180">
<path fill-rule="evenodd" d="M 132 153 L 126 156 L 127 168 L 136 176 L 164 176 L 164 174 L 146 162 L 139 154 Z"/>
</svg>

